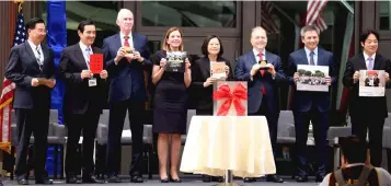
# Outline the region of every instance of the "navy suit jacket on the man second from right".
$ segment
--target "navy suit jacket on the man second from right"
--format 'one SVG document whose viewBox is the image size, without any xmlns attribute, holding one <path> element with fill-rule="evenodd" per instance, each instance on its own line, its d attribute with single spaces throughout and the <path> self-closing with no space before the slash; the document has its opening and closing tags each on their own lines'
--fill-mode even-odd
<svg viewBox="0 0 391 186">
<path fill-rule="evenodd" d="M 330 109 L 330 94 L 329 92 L 310 92 L 310 91 L 297 91 L 294 74 L 297 72 L 298 65 L 309 65 L 304 48 L 294 51 L 289 55 L 289 83 L 294 85 L 294 111 L 295 112 L 308 112 L 312 105 L 320 112 L 326 112 Z M 333 60 L 333 54 L 318 47 L 318 66 L 327 66 L 329 75 L 331 77 L 331 86 L 336 84 L 337 68 Z"/>
</svg>

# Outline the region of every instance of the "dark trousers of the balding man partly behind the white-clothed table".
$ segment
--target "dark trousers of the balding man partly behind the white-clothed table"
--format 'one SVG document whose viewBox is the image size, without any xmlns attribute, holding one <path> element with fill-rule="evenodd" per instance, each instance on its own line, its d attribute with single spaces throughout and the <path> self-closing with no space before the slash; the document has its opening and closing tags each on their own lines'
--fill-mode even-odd
<svg viewBox="0 0 391 186">
<path fill-rule="evenodd" d="M 267 119 L 268 132 L 271 136 L 271 143 L 274 154 L 274 160 L 276 160 L 277 154 L 277 129 L 278 129 L 278 117 L 279 111 L 269 111 L 267 106 L 267 97 L 263 95 L 262 104 L 256 113 L 249 113 L 249 116 L 265 116 Z"/>
</svg>

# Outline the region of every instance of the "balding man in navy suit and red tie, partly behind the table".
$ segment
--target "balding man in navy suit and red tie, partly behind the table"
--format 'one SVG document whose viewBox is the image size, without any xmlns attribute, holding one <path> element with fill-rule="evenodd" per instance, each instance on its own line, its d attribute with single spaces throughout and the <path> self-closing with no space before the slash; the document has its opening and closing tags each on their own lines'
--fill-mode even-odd
<svg viewBox="0 0 391 186">
<path fill-rule="evenodd" d="M 248 81 L 249 115 L 264 115 L 267 119 L 273 153 L 276 156 L 278 107 L 278 82 L 285 80 L 281 59 L 265 50 L 267 45 L 266 31 L 254 27 L 251 33 L 253 49 L 239 57 L 235 68 L 235 79 Z M 261 61 L 267 61 L 262 65 Z M 255 178 L 244 178 L 254 182 Z M 267 175 L 267 182 L 284 183 L 277 175 Z"/>
</svg>

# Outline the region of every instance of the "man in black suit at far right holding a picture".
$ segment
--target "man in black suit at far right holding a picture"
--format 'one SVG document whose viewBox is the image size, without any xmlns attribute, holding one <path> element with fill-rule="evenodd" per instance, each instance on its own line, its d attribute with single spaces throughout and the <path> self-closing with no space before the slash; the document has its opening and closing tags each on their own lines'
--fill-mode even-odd
<svg viewBox="0 0 391 186">
<path fill-rule="evenodd" d="M 365 141 L 369 130 L 370 162 L 373 166 L 381 164 L 381 149 L 384 118 L 388 117 L 387 97 L 359 96 L 359 70 L 384 70 L 386 88 L 390 88 L 391 61 L 377 53 L 379 34 L 366 31 L 360 35 L 364 51 L 346 62 L 343 83 L 349 88 L 349 114 L 352 133 Z"/>
</svg>

